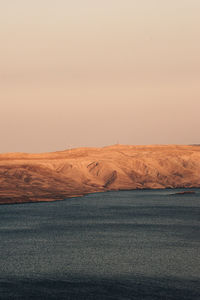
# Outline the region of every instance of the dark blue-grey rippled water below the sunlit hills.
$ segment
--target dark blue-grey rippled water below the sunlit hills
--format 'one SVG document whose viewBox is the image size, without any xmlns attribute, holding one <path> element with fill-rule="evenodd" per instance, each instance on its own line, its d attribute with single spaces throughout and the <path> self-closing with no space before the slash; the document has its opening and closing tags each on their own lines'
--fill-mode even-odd
<svg viewBox="0 0 200 300">
<path fill-rule="evenodd" d="M 0 299 L 200 299 L 200 189 L 0 206 Z"/>
</svg>

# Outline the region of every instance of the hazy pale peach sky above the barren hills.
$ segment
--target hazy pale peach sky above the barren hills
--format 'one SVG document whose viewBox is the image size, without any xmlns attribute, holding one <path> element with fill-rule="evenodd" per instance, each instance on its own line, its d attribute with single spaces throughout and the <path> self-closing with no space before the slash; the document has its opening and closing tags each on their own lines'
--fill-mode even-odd
<svg viewBox="0 0 200 300">
<path fill-rule="evenodd" d="M 0 0 L 0 152 L 200 143 L 199 0 Z"/>
</svg>

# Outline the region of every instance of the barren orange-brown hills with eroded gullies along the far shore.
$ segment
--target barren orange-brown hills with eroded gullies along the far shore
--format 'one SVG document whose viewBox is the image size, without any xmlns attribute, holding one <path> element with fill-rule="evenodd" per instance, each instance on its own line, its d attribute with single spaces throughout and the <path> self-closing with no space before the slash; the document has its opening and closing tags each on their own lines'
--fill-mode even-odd
<svg viewBox="0 0 200 300">
<path fill-rule="evenodd" d="M 116 145 L 0 155 L 0 203 L 177 187 L 200 187 L 200 147 Z"/>
</svg>

